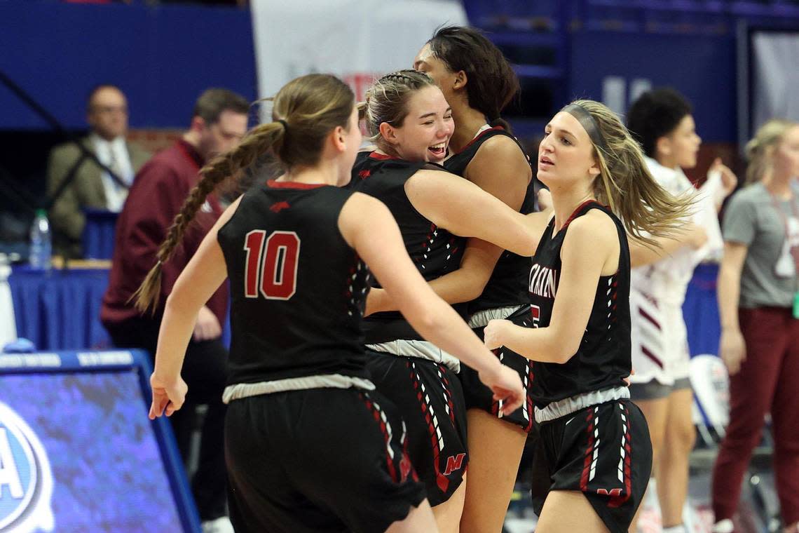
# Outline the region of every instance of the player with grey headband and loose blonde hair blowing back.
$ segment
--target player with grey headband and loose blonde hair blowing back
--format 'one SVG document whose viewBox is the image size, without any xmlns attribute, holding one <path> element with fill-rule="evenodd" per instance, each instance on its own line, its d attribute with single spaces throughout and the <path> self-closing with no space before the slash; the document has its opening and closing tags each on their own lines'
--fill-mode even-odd
<svg viewBox="0 0 799 533">
<path fill-rule="evenodd" d="M 630 374 L 626 231 L 645 242 L 652 241 L 644 231 L 674 233 L 687 206 L 654 181 L 638 144 L 595 101 L 575 101 L 555 115 L 538 165 L 555 216 L 533 257 L 532 327 L 491 320 L 485 342 L 534 362 L 536 531 L 626 532 L 652 463 L 646 420 L 624 383 Z"/>
</svg>

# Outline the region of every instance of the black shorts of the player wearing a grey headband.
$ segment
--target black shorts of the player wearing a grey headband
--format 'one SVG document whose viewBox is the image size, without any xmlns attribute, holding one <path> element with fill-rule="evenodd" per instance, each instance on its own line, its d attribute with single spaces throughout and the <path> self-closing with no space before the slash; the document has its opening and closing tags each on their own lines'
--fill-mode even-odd
<svg viewBox="0 0 799 533">
<path fill-rule="evenodd" d="M 638 406 L 614 400 L 536 425 L 536 514 L 550 491 L 582 491 L 610 531 L 626 533 L 652 472 L 649 428 Z"/>
</svg>

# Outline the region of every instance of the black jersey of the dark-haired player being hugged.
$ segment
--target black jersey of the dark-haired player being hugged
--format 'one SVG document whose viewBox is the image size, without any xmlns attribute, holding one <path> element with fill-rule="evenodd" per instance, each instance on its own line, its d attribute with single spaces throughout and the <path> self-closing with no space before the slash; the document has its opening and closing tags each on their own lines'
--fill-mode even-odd
<svg viewBox="0 0 799 533">
<path fill-rule="evenodd" d="M 483 145 L 483 142 L 498 135 L 511 137 L 519 145 L 519 141 L 516 141 L 516 138 L 507 133 L 501 126 L 486 129 L 463 147 L 460 152 L 455 153 L 447 161 L 444 161 L 444 168 L 451 173 L 463 176 L 467 166 L 472 158 L 475 157 L 475 153 Z M 524 152 L 521 145 L 519 145 L 519 149 Z M 532 179 L 530 185 L 527 185 L 527 194 L 524 195 L 524 201 L 520 209 L 521 213 L 527 214 L 535 211 L 534 181 L 535 179 Z M 483 294 L 469 303 L 469 312 L 474 313 L 484 309 L 527 304 L 529 301 L 527 298 L 527 268 L 529 266 L 529 257 L 517 256 L 515 253 L 505 250 L 499 257 L 499 261 L 494 267 L 494 272 L 491 273 L 491 278 L 489 278 L 486 287 L 483 289 Z"/>
</svg>

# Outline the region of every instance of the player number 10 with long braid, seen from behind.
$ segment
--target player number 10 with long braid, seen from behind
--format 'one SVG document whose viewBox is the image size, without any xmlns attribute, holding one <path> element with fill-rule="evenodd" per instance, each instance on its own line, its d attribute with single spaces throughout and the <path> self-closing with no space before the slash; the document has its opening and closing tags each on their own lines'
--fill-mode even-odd
<svg viewBox="0 0 799 533">
<path fill-rule="evenodd" d="M 388 209 L 338 187 L 361 140 L 352 90 L 328 75 L 297 78 L 277 93 L 272 119 L 201 171 L 142 285 L 147 308 L 160 265 L 218 183 L 264 153 L 280 161 L 284 174 L 233 202 L 178 278 L 158 339 L 150 416 L 181 408 L 197 310 L 229 277 L 225 451 L 237 531 L 436 531 L 403 421 L 364 368 L 367 265 L 413 328 L 479 368 L 512 408 L 522 400 L 518 376 L 427 287 Z"/>
</svg>

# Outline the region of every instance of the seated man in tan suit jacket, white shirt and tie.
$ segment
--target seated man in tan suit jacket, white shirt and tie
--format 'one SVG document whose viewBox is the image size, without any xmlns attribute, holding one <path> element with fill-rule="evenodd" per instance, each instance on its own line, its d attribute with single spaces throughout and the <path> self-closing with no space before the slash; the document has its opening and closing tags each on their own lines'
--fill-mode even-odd
<svg viewBox="0 0 799 533">
<path fill-rule="evenodd" d="M 149 159 L 149 153 L 125 141 L 128 132 L 128 102 L 125 94 L 110 85 L 97 86 L 89 94 L 86 121 L 90 132 L 80 141 L 118 179 L 88 157 L 75 142 L 56 146 L 47 165 L 47 193 L 52 196 L 74 173 L 50 209 L 54 245 L 66 257 L 81 257 L 81 234 L 85 227 L 82 209 L 119 212 L 133 176 Z"/>
</svg>

